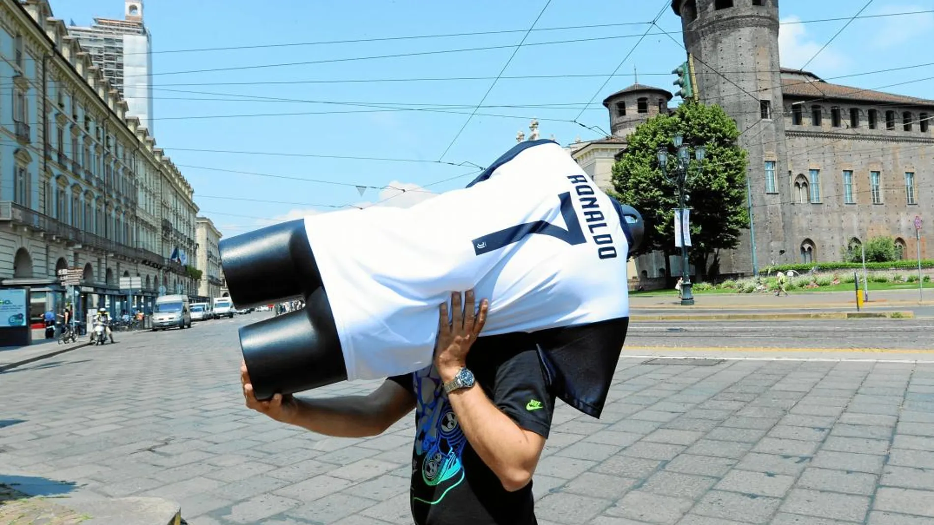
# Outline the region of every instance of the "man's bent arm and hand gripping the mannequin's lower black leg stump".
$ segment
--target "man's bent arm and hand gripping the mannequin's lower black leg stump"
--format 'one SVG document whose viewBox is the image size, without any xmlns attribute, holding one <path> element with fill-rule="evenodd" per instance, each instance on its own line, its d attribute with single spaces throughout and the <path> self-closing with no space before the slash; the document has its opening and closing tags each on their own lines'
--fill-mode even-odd
<svg viewBox="0 0 934 525">
<path fill-rule="evenodd" d="M 300 426 L 318 434 L 337 437 L 366 437 L 382 434 L 415 408 L 415 397 L 399 383 L 386 380 L 367 395 L 348 395 L 325 399 L 299 399 L 276 394 L 272 400 L 259 401 L 253 394 L 247 366 L 240 366 L 247 407 L 270 418 Z"/>
</svg>

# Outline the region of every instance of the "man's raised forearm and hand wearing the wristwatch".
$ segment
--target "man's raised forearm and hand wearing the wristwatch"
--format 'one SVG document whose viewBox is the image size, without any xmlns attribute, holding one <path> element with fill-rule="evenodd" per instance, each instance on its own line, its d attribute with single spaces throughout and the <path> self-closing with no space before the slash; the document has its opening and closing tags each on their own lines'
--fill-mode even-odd
<svg viewBox="0 0 934 525">
<path fill-rule="evenodd" d="M 474 318 L 474 292 L 465 294 L 463 313 L 460 293 L 452 294 L 453 321 L 448 321 L 447 305 L 440 307 L 438 352 L 435 366 L 444 382 L 465 366 L 467 352 L 487 320 L 488 304 L 481 301 Z M 458 416 L 460 429 L 480 459 L 500 478 L 505 490 L 520 490 L 529 484 L 545 448 L 545 437 L 520 427 L 488 398 L 479 385 L 447 395 Z"/>
</svg>

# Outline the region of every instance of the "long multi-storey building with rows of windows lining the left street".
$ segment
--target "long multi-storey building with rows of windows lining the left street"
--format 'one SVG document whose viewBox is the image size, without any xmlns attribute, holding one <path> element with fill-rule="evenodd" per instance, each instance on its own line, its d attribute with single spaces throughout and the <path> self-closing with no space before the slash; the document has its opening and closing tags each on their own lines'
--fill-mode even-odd
<svg viewBox="0 0 934 525">
<path fill-rule="evenodd" d="M 0 104 L 0 286 L 29 286 L 34 319 L 195 294 L 171 258 L 196 255 L 191 185 L 45 0 L 0 0 L 0 57 L 14 103 Z M 62 286 L 63 269 L 80 283 Z"/>
</svg>

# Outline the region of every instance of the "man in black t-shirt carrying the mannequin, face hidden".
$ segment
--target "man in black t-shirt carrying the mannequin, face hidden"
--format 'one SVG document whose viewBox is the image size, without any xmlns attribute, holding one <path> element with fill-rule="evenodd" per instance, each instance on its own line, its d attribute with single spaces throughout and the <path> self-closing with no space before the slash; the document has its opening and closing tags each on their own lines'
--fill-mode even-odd
<svg viewBox="0 0 934 525">
<path fill-rule="evenodd" d="M 551 427 L 548 392 L 537 349 L 519 339 L 477 342 L 488 301 L 451 295 L 439 307 L 432 366 L 385 380 L 367 395 L 299 399 L 253 395 L 240 375 L 247 407 L 318 434 L 379 435 L 416 410 L 410 503 L 417 525 L 536 523 L 531 477 Z M 472 347 L 475 348 L 471 352 Z"/>
</svg>

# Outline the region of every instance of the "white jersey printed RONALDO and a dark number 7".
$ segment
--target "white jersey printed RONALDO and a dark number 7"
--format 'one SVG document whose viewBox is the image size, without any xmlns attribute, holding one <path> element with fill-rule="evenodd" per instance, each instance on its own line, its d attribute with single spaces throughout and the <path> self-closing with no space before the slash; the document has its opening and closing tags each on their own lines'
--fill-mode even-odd
<svg viewBox="0 0 934 525">
<path fill-rule="evenodd" d="M 438 306 L 473 288 L 482 336 L 629 316 L 628 230 L 558 144 L 514 147 L 469 187 L 411 208 L 304 218 L 348 380 L 432 362 Z M 617 349 L 618 350 L 618 349 Z"/>
</svg>

